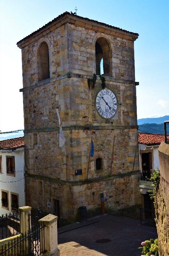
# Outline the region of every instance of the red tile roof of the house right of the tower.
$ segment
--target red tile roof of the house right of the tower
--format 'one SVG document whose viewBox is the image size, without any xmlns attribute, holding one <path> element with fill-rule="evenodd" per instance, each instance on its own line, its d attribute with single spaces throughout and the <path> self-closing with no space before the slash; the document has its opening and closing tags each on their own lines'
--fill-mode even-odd
<svg viewBox="0 0 169 256">
<path fill-rule="evenodd" d="M 167 140 L 169 140 L 169 135 L 167 135 Z M 160 145 L 162 141 L 164 141 L 163 134 L 146 133 L 146 132 L 138 133 L 138 142 L 141 144 L 145 144 L 147 146 L 154 146 L 154 145 Z"/>
</svg>

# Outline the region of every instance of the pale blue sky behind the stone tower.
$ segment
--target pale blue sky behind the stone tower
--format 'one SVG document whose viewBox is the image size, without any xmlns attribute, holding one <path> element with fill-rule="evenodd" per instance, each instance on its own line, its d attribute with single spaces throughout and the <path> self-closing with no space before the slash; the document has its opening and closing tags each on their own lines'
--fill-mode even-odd
<svg viewBox="0 0 169 256">
<path fill-rule="evenodd" d="M 0 130 L 24 128 L 21 50 L 16 43 L 65 11 L 139 34 L 137 118 L 169 114 L 169 0 L 0 0 Z"/>
</svg>

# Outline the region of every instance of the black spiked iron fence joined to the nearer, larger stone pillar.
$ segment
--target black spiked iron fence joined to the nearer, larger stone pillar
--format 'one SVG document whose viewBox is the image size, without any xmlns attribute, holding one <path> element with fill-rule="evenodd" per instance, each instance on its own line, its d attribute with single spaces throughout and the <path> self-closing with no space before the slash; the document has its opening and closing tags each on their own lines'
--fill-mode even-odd
<svg viewBox="0 0 169 256">
<path fill-rule="evenodd" d="M 28 230 L 0 246 L 0 256 L 40 256 L 45 252 L 45 226 Z"/>
</svg>

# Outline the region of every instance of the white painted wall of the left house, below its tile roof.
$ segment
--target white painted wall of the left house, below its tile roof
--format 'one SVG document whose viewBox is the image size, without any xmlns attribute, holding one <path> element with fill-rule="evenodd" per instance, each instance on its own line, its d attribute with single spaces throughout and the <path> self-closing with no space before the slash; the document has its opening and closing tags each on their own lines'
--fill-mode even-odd
<svg viewBox="0 0 169 256">
<path fill-rule="evenodd" d="M 3 206 L 0 201 L 0 215 L 13 211 L 12 198 L 18 197 L 18 207 L 25 206 L 25 178 L 24 178 L 24 147 L 12 149 L 0 149 L 2 156 L 2 171 L 0 172 L 0 193 L 8 194 L 8 206 Z M 15 173 L 7 173 L 7 156 L 14 156 Z M 14 196 L 13 196 L 14 195 Z"/>
</svg>

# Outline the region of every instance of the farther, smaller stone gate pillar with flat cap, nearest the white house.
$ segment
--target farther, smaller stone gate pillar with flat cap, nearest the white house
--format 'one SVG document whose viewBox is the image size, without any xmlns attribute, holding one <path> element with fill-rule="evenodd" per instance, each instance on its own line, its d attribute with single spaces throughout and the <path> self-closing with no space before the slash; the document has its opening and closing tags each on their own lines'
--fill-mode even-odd
<svg viewBox="0 0 169 256">
<path fill-rule="evenodd" d="M 18 210 L 20 210 L 20 233 L 25 235 L 25 232 L 27 234 L 29 230 L 29 221 L 30 221 L 30 228 L 31 228 L 31 216 L 28 216 L 31 214 L 31 207 L 30 206 L 23 206 L 19 207 Z M 29 220 L 30 217 L 30 220 Z"/>
</svg>

